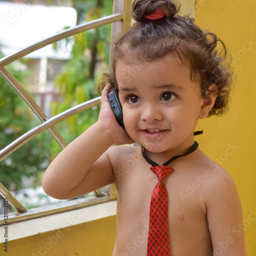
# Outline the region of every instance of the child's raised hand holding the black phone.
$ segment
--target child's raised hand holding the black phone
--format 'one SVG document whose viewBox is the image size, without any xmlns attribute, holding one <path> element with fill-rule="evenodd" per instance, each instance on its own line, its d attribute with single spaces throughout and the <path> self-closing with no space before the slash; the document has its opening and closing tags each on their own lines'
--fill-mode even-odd
<svg viewBox="0 0 256 256">
<path fill-rule="evenodd" d="M 112 112 L 109 103 L 109 91 L 111 90 L 111 84 L 108 83 L 104 87 L 101 93 L 101 109 L 99 113 L 98 123 L 104 127 L 104 130 L 109 133 L 109 136 L 113 139 L 113 143 L 117 144 L 131 144 L 134 141 L 126 133 L 117 122 L 114 113 Z"/>
</svg>

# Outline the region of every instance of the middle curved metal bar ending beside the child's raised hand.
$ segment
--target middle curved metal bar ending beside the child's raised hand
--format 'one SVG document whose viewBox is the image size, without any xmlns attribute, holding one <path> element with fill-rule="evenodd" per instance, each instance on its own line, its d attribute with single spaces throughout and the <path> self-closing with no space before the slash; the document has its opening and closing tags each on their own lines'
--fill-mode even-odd
<svg viewBox="0 0 256 256">
<path fill-rule="evenodd" d="M 52 118 L 49 118 L 44 123 L 37 125 L 33 129 L 31 129 L 29 132 L 25 133 L 24 135 L 20 136 L 18 139 L 14 140 L 12 143 L 10 143 L 8 146 L 3 148 L 3 150 L 0 151 L 0 161 L 2 161 L 4 158 L 9 156 L 12 152 L 17 150 L 20 146 L 24 145 L 27 141 L 34 138 L 36 135 L 46 131 L 51 126 L 59 123 L 62 120 L 65 120 L 77 113 L 80 113 L 83 110 L 87 110 L 92 108 L 92 106 L 97 105 L 100 102 L 101 97 L 97 97 L 95 99 L 88 100 L 87 102 L 83 102 L 77 106 L 74 106 L 73 108 L 66 110 Z"/>
</svg>

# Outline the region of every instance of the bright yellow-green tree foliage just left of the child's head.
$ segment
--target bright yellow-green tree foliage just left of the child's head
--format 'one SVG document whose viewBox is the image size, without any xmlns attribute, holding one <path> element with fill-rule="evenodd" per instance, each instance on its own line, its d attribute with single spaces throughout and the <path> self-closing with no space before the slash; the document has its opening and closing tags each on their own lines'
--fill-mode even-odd
<svg viewBox="0 0 256 256">
<path fill-rule="evenodd" d="M 112 13 L 112 1 L 97 1 L 94 5 L 79 8 L 82 23 Z M 74 7 L 76 7 L 74 3 Z M 55 86 L 58 88 L 63 101 L 53 102 L 52 114 L 59 114 L 74 105 L 88 101 L 99 96 L 98 84 L 102 72 L 108 69 L 110 52 L 111 25 L 105 25 L 97 29 L 76 34 L 66 39 L 73 40 L 71 59 L 67 62 L 65 69 L 56 77 Z M 59 42 L 60 44 L 60 42 Z M 58 44 L 54 46 L 58 50 Z M 61 135 L 68 141 L 72 141 L 98 119 L 99 106 L 83 113 L 77 114 L 67 121 L 58 124 Z"/>
</svg>

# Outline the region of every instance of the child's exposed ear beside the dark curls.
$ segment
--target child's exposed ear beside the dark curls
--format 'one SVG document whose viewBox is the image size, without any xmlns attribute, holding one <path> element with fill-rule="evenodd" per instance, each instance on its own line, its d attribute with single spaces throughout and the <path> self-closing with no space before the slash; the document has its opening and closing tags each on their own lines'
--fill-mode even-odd
<svg viewBox="0 0 256 256">
<path fill-rule="evenodd" d="M 203 97 L 203 104 L 201 106 L 199 118 L 204 119 L 208 116 L 209 111 L 214 106 L 216 97 L 218 93 L 218 88 L 216 84 L 211 84 L 209 86 L 208 92 L 206 92 L 206 95 Z"/>
</svg>

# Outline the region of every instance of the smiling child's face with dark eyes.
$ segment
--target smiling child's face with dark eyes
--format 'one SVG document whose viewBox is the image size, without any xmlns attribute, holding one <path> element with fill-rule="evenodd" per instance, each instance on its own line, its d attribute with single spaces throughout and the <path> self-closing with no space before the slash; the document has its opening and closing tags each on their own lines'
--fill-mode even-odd
<svg viewBox="0 0 256 256">
<path fill-rule="evenodd" d="M 132 65 L 118 61 L 116 78 L 126 132 L 154 153 L 187 150 L 201 116 L 200 86 L 174 56 Z"/>
</svg>

